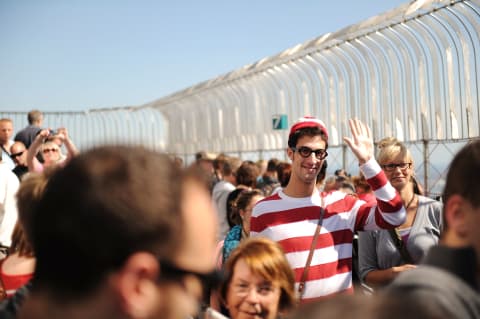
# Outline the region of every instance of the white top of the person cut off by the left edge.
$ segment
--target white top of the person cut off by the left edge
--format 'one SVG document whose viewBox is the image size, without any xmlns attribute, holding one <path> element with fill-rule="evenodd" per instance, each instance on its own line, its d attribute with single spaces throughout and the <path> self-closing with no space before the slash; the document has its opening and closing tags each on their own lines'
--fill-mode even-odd
<svg viewBox="0 0 480 319">
<path fill-rule="evenodd" d="M 3 163 L 1 156 L 0 153 L 0 246 L 8 248 L 18 219 L 15 195 L 20 181 L 7 164 Z"/>
</svg>

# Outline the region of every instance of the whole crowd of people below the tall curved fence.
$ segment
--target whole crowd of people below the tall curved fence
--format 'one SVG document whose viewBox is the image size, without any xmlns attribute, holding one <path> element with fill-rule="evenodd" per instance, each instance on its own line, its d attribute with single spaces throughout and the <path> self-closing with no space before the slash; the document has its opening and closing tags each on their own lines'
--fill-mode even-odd
<svg viewBox="0 0 480 319">
<path fill-rule="evenodd" d="M 357 119 L 354 176 L 328 176 L 313 117 L 291 126 L 288 161 L 202 151 L 189 165 L 142 146 L 78 152 L 40 111 L 28 120 L 12 139 L 0 119 L 0 318 L 480 318 L 480 140 L 440 202 L 407 146 L 375 152 Z"/>
</svg>

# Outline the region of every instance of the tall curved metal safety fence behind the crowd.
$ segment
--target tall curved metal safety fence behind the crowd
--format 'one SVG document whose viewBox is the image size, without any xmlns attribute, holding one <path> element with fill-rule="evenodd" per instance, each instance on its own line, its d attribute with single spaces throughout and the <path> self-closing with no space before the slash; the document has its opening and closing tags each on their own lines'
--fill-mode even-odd
<svg viewBox="0 0 480 319">
<path fill-rule="evenodd" d="M 80 148 L 143 143 L 188 163 L 200 150 L 286 159 L 287 131 L 273 118 L 289 126 L 309 114 L 328 128 L 329 166 L 356 173 L 342 141 L 357 117 L 375 140 L 409 144 L 434 194 L 452 154 L 479 136 L 479 31 L 480 0 L 410 2 L 145 105 L 46 121 L 68 126 Z"/>
</svg>

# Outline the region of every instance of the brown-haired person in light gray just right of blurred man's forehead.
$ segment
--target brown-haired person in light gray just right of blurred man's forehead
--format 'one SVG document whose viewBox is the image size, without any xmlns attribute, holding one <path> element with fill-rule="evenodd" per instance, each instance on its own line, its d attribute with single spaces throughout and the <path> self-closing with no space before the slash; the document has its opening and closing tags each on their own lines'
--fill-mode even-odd
<svg viewBox="0 0 480 319">
<path fill-rule="evenodd" d="M 212 199 L 215 204 L 217 220 L 219 222 L 218 241 L 223 240 L 230 230 L 227 219 L 227 198 L 237 185 L 236 171 L 241 164 L 242 161 L 238 157 L 227 157 L 219 163 L 221 166 L 219 176 L 222 176 L 222 180 L 215 184 L 212 191 Z"/>
</svg>

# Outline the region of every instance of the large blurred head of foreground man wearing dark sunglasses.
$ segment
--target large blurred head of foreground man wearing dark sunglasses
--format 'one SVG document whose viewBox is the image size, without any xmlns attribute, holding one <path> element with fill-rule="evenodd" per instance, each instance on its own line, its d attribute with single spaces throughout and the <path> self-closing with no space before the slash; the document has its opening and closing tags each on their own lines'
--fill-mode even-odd
<svg viewBox="0 0 480 319">
<path fill-rule="evenodd" d="M 142 147 L 73 158 L 32 212 L 37 262 L 18 318 L 195 315 L 204 285 L 218 279 L 202 177 Z"/>
</svg>

